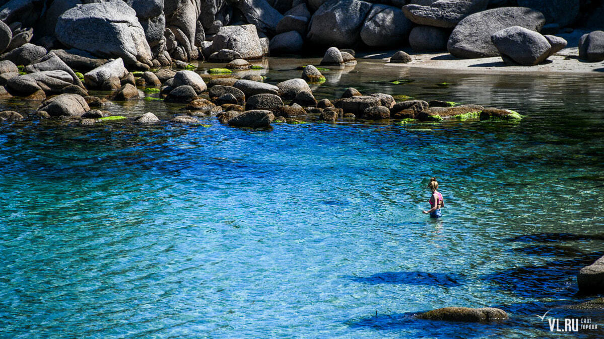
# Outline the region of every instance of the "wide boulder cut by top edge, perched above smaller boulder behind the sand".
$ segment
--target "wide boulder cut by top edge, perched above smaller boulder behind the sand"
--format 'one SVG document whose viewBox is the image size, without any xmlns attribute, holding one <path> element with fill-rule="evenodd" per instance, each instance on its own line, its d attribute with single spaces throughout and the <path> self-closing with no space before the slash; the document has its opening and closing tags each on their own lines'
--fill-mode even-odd
<svg viewBox="0 0 604 339">
<path fill-rule="evenodd" d="M 483 11 L 489 0 L 439 0 L 430 5 L 409 4 L 403 13 L 418 25 L 452 28 L 464 17 Z"/>
</svg>

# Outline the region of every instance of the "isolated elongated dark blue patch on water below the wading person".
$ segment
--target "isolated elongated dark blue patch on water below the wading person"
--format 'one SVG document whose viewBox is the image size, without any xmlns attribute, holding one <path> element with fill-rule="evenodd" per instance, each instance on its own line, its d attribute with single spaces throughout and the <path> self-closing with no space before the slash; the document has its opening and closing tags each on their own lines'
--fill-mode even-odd
<svg viewBox="0 0 604 339">
<path fill-rule="evenodd" d="M 354 277 L 353 280 L 363 284 L 406 284 L 457 287 L 464 284 L 465 277 L 455 273 L 399 271 L 376 273 L 368 277 Z"/>
</svg>

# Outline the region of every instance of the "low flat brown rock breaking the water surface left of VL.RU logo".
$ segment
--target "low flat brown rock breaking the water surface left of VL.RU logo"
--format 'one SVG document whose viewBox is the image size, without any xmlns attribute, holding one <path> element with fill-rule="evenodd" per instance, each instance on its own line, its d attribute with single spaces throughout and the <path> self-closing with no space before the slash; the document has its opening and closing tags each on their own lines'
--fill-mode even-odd
<svg viewBox="0 0 604 339">
<path fill-rule="evenodd" d="M 427 320 L 446 320 L 450 322 L 492 322 L 507 319 L 503 309 L 485 307 L 445 307 L 417 314 L 416 318 Z"/>
</svg>

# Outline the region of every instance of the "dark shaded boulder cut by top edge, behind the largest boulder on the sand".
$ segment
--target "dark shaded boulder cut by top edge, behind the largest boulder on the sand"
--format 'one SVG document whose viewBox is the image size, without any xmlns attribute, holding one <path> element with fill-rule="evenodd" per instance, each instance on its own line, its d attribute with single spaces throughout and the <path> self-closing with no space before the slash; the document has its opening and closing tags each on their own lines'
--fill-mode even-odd
<svg viewBox="0 0 604 339">
<path fill-rule="evenodd" d="M 579 16 L 579 2 L 579 0 L 518 0 L 518 5 L 543 13 L 546 24 L 556 23 L 565 27 L 573 24 Z"/>
</svg>

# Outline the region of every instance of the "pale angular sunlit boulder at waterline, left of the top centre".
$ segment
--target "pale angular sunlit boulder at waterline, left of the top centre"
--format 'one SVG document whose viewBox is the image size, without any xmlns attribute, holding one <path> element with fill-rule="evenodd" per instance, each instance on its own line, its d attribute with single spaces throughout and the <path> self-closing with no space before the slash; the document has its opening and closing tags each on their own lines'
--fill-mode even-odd
<svg viewBox="0 0 604 339">
<path fill-rule="evenodd" d="M 262 58 L 262 46 L 254 25 L 221 27 L 214 36 L 210 51 L 231 49 L 241 55 L 241 59 L 251 60 Z"/>
</svg>

